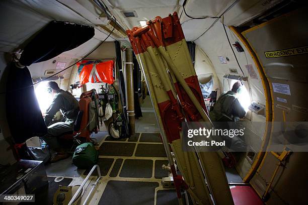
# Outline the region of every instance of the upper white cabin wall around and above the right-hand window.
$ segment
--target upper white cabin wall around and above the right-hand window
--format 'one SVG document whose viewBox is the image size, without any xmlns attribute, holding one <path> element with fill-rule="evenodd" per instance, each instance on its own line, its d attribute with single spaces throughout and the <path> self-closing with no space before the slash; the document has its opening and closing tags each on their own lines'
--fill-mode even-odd
<svg viewBox="0 0 308 205">
<path fill-rule="evenodd" d="M 230 39 L 230 43 L 234 44 L 238 41 L 241 44 L 241 41 L 237 38 L 232 31 L 230 31 L 227 27 L 225 28 L 227 31 L 227 35 Z M 243 44 L 242 47 L 244 52 L 239 53 L 234 47 L 230 48 L 230 45 L 227 41 L 225 32 L 223 30 L 223 25 L 220 22 L 217 22 L 210 30 L 208 30 L 202 37 L 200 37 L 195 42 L 208 56 L 210 61 L 212 62 L 214 69 L 217 73 L 218 80 L 220 81 L 221 90 L 228 91 L 232 84 L 228 84 L 229 80 L 224 80 L 224 90 L 223 89 L 223 78 L 222 76 L 225 74 L 232 74 L 232 75 L 241 75 L 243 73 L 239 68 L 236 58 L 231 49 L 234 49 L 240 66 L 244 72 L 245 76 L 248 76 L 248 82 L 245 82 L 244 85 L 246 86 L 247 90 L 251 94 L 252 100 L 258 101 L 261 104 L 265 105 L 265 96 L 264 96 L 264 88 L 262 85 L 262 81 L 260 75 L 258 73 L 257 67 L 250 56 L 249 52 L 246 50 Z M 221 63 L 218 56 L 222 56 L 225 59 L 226 63 Z M 229 61 L 226 60 L 229 59 Z M 250 77 L 247 68 L 245 65 L 252 65 L 254 72 L 256 73 L 257 79 L 253 79 Z M 229 69 L 237 69 L 237 73 L 231 73 Z M 228 87 L 229 86 L 229 87 Z"/>
</svg>

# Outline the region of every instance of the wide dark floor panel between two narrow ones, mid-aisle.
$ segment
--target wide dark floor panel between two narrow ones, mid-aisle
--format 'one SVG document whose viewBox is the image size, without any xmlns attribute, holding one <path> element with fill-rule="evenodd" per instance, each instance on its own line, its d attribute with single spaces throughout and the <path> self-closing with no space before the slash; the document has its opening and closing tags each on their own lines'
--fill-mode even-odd
<svg viewBox="0 0 308 205">
<path fill-rule="evenodd" d="M 120 172 L 120 177 L 151 178 L 152 160 L 126 159 Z"/>
</svg>

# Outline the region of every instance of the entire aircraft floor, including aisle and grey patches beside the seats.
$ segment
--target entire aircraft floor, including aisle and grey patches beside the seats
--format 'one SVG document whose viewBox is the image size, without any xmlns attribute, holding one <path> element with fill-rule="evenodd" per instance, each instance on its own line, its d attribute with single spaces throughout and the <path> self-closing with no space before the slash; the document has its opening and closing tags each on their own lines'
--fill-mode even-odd
<svg viewBox="0 0 308 205">
<path fill-rule="evenodd" d="M 106 132 L 93 135 L 99 142 L 102 178 L 89 204 L 178 204 L 175 190 L 162 187 L 162 177 L 168 176 L 162 165 L 168 165 L 168 159 L 155 114 L 148 101 L 144 105 L 143 117 L 136 120 L 136 134 L 129 139 L 115 140 Z M 72 178 L 69 185 L 74 185 L 81 184 L 89 170 L 77 169 L 68 158 L 47 165 L 46 172 L 48 176 Z M 229 182 L 242 182 L 237 177 L 234 170 L 227 170 Z M 82 203 L 96 179 L 95 171 L 85 185 Z"/>
</svg>

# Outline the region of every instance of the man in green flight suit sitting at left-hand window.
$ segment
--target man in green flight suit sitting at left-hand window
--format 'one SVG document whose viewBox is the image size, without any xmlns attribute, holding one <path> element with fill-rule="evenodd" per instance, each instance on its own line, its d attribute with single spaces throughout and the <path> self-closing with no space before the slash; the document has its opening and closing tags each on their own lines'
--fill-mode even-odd
<svg viewBox="0 0 308 205">
<path fill-rule="evenodd" d="M 51 162 L 56 162 L 69 156 L 59 145 L 57 137 L 73 131 L 73 124 L 79 112 L 79 103 L 71 93 L 60 89 L 56 82 L 49 81 L 47 86 L 48 92 L 54 98 L 45 113 L 45 124 L 48 127 L 48 131 L 42 138 L 56 152 L 50 160 Z M 58 111 L 64 116 L 65 122 L 51 125 L 54 115 Z"/>
</svg>

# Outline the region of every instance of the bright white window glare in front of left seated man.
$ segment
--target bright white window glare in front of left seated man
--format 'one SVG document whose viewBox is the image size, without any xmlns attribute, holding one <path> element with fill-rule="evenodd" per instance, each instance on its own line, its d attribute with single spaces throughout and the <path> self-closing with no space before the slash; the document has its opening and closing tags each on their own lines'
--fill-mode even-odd
<svg viewBox="0 0 308 205">
<path fill-rule="evenodd" d="M 43 81 L 35 88 L 35 94 L 42 113 L 45 113 L 52 102 L 52 96 L 47 91 L 48 81 Z"/>
</svg>

